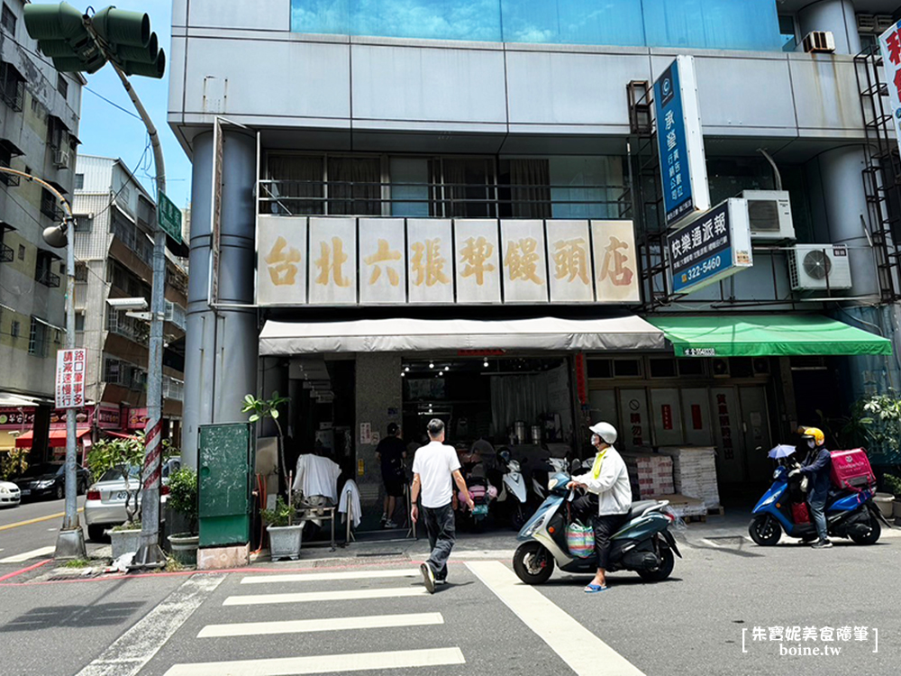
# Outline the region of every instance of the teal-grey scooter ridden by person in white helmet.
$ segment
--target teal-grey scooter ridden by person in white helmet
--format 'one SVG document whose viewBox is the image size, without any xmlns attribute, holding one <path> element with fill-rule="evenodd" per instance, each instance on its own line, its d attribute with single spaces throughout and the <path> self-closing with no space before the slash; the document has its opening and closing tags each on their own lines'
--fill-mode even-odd
<svg viewBox="0 0 901 676">
<path fill-rule="evenodd" d="M 574 462 L 578 467 L 578 461 Z M 573 492 L 567 488 L 569 474 L 557 472 L 548 481 L 548 497 L 532 515 L 517 540 L 522 542 L 513 558 L 513 570 L 526 584 L 542 584 L 554 571 L 594 573 L 594 556 L 579 558 L 569 553 L 567 545 L 567 517 L 563 508 Z M 676 516 L 667 507 L 667 500 L 633 502 L 626 523 L 614 533 L 611 541 L 608 571 L 635 571 L 643 580 L 666 580 L 673 571 L 675 558 L 681 558 L 669 525 Z"/>
</svg>

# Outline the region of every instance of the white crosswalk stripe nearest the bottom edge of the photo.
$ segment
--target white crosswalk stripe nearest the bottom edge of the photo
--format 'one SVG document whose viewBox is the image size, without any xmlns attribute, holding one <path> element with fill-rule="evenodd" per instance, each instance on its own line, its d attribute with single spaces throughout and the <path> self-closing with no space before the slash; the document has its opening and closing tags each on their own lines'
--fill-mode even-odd
<svg viewBox="0 0 901 676">
<path fill-rule="evenodd" d="M 407 667 L 437 667 L 465 664 L 460 648 L 396 650 L 387 653 L 344 653 L 278 657 L 234 662 L 196 662 L 175 664 L 165 676 L 293 676 L 308 673 L 371 671 Z"/>
</svg>

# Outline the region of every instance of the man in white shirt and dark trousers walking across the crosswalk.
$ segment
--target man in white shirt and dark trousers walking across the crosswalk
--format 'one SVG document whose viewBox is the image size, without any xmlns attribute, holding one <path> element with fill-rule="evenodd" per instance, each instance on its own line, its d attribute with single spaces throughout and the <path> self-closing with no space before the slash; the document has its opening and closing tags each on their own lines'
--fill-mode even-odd
<svg viewBox="0 0 901 676">
<path fill-rule="evenodd" d="M 443 584 L 448 577 L 448 558 L 455 542 L 453 507 L 451 497 L 453 486 L 451 479 L 457 484 L 460 492 L 466 496 L 469 508 L 475 507 L 466 481 L 460 474 L 460 460 L 452 446 L 444 444 L 444 423 L 432 418 L 428 425 L 429 439 L 432 441 L 418 451 L 413 460 L 413 489 L 410 497 L 413 510 L 410 516 L 414 522 L 419 519 L 419 507 L 416 500 L 419 492 L 423 492 L 423 521 L 425 532 L 429 535 L 429 546 L 432 554 L 429 560 L 420 567 L 423 571 L 423 582 L 429 593 L 434 593 L 436 584 Z"/>
</svg>

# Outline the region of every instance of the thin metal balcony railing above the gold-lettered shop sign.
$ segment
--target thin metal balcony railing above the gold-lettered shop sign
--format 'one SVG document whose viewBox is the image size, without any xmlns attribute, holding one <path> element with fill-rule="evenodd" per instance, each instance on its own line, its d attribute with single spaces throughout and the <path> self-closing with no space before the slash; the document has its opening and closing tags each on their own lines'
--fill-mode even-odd
<svg viewBox="0 0 901 676">
<path fill-rule="evenodd" d="M 623 218 L 629 187 L 260 179 L 259 213 L 468 218 Z M 406 195 L 397 195 L 397 192 Z"/>
</svg>

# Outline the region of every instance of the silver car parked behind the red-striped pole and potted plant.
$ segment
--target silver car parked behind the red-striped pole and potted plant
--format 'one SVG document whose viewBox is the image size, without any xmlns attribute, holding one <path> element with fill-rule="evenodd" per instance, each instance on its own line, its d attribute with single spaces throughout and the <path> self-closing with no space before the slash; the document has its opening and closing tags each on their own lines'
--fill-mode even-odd
<svg viewBox="0 0 901 676">
<path fill-rule="evenodd" d="M 168 478 L 181 467 L 181 458 L 169 458 L 162 466 L 162 490 L 159 496 L 160 514 L 166 507 L 168 496 Z M 128 488 L 125 487 L 123 469 L 109 470 L 91 488 L 87 489 L 85 500 L 85 523 L 87 525 L 87 539 L 91 542 L 100 542 L 105 531 L 115 525 L 125 523 L 128 515 L 125 512 L 125 498 L 131 493 L 129 507 L 134 505 L 135 496 L 139 494 L 141 486 L 141 468 L 132 466 L 128 468 Z M 138 500 L 140 506 L 141 501 Z"/>
</svg>

